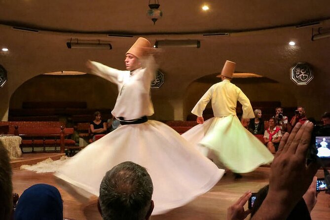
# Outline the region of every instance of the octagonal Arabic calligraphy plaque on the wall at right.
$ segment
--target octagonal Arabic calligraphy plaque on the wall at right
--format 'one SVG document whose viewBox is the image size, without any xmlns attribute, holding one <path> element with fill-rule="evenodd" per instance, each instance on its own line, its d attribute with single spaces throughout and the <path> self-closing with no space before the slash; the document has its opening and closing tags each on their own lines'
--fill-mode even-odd
<svg viewBox="0 0 330 220">
<path fill-rule="evenodd" d="M 290 78 L 297 85 L 307 85 L 313 77 L 313 70 L 307 63 L 296 63 L 290 69 Z"/>
</svg>

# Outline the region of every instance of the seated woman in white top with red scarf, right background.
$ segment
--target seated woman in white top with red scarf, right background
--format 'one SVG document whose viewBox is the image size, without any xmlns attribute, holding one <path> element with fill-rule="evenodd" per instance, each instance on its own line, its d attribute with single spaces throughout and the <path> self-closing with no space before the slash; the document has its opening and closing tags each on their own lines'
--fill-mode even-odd
<svg viewBox="0 0 330 220">
<path fill-rule="evenodd" d="M 265 130 L 263 140 L 270 152 L 275 153 L 282 138 L 281 128 L 275 125 L 274 118 L 269 118 L 268 129 Z"/>
</svg>

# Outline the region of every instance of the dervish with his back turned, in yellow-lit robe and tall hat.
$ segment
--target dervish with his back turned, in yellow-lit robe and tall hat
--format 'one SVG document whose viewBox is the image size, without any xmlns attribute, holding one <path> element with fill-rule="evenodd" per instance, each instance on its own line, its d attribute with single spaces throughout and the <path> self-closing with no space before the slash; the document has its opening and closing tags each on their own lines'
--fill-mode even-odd
<svg viewBox="0 0 330 220">
<path fill-rule="evenodd" d="M 225 62 L 222 81 L 211 86 L 191 111 L 199 124 L 182 136 L 220 166 L 234 173 L 248 173 L 270 163 L 274 156 L 236 116 L 237 101 L 242 104 L 242 118 L 254 118 L 255 114 L 248 97 L 230 82 L 235 66 L 231 61 Z M 210 100 L 214 117 L 204 122 L 202 114 Z"/>
</svg>

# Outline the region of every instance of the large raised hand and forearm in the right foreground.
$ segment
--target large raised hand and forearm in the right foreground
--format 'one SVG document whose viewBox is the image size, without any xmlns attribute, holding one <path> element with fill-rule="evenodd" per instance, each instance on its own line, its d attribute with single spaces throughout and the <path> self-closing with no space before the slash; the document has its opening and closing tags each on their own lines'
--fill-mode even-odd
<svg viewBox="0 0 330 220">
<path fill-rule="evenodd" d="M 297 123 L 281 139 L 271 164 L 268 193 L 252 220 L 287 219 L 311 185 L 319 165 L 306 164 L 313 123 Z M 297 184 L 298 183 L 298 184 Z"/>
</svg>

